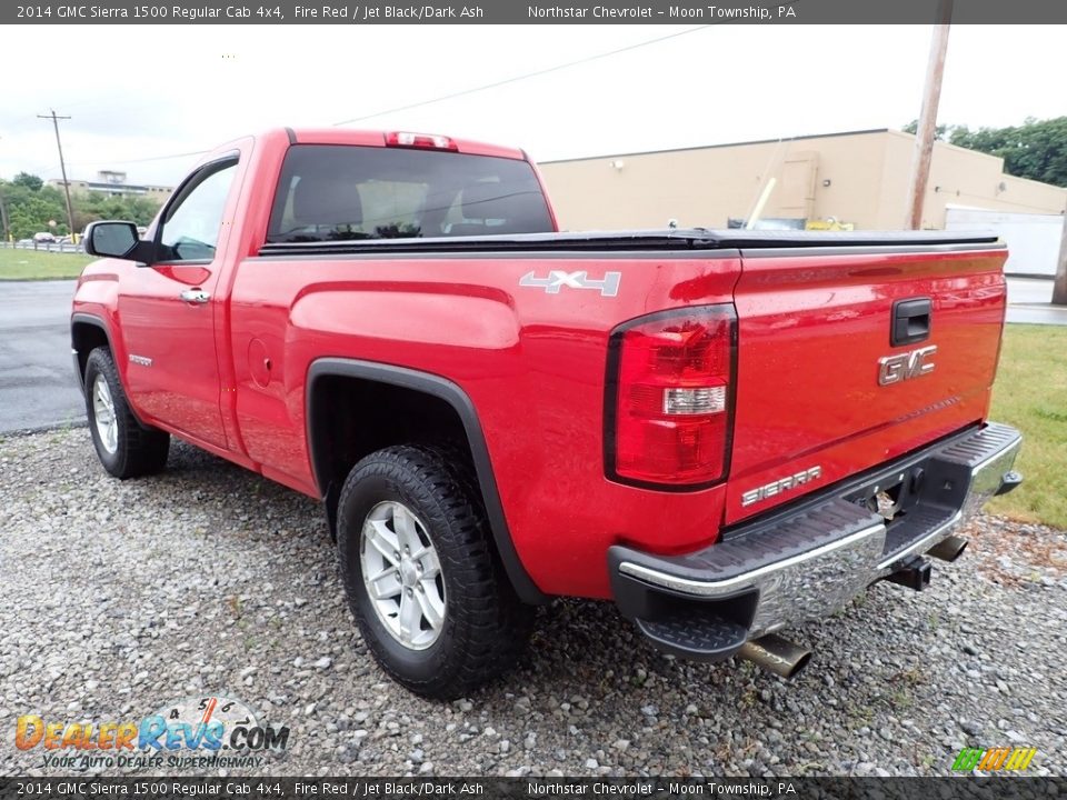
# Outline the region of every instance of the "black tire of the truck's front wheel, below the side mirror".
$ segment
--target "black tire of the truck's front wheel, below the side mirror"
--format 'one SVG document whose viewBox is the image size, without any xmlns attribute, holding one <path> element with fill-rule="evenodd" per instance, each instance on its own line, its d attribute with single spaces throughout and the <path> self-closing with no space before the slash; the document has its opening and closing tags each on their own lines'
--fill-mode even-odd
<svg viewBox="0 0 1067 800">
<path fill-rule="evenodd" d="M 98 380 L 107 384 L 114 409 L 113 449 L 104 443 L 97 424 L 93 400 Z M 93 350 L 86 362 L 86 414 L 100 463 L 116 478 L 154 474 L 167 466 L 170 434 L 157 428 L 146 428 L 137 421 L 122 391 L 114 359 L 107 348 Z"/>
</svg>

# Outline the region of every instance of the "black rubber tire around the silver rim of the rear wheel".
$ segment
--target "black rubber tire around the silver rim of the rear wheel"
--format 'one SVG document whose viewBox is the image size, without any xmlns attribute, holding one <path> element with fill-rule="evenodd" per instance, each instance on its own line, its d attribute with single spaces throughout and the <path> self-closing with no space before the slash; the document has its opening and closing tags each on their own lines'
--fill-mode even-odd
<svg viewBox="0 0 1067 800">
<path fill-rule="evenodd" d="M 352 468 L 338 502 L 341 577 L 363 640 L 397 682 L 437 700 L 462 697 L 509 670 L 532 629 L 534 609 L 519 600 L 503 572 L 469 470 L 438 448 L 387 448 Z M 390 632 L 363 582 L 365 522 L 372 510 L 393 503 L 415 514 L 440 563 L 443 621 L 425 649 Z M 399 576 L 398 568 L 397 581 Z"/>
</svg>

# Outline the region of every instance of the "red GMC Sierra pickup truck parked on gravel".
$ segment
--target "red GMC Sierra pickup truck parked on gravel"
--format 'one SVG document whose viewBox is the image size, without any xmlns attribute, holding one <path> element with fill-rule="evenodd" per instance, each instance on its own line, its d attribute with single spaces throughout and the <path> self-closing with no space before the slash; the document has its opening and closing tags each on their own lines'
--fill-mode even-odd
<svg viewBox="0 0 1067 800">
<path fill-rule="evenodd" d="M 986 419 L 990 237 L 560 233 L 519 150 L 286 129 L 86 247 L 103 467 L 177 436 L 320 498 L 365 640 L 429 697 L 507 669 L 556 596 L 791 674 L 775 631 L 921 589 L 1021 480 Z"/>
</svg>

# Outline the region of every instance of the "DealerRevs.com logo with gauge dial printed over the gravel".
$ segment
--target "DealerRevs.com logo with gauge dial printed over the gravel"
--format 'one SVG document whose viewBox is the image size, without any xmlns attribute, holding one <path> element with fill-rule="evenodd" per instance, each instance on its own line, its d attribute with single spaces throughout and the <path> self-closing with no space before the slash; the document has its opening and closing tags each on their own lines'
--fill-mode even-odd
<svg viewBox="0 0 1067 800">
<path fill-rule="evenodd" d="M 49 721 L 23 714 L 14 746 L 41 750 L 42 767 L 57 769 L 261 767 L 281 754 L 289 728 L 260 724 L 240 700 L 183 698 L 140 720 Z"/>
</svg>

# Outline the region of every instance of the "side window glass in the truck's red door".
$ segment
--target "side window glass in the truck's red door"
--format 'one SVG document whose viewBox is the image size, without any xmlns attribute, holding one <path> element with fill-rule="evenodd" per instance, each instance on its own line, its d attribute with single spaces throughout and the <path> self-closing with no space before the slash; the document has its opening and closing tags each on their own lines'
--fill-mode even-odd
<svg viewBox="0 0 1067 800">
<path fill-rule="evenodd" d="M 230 193 L 236 167 L 237 161 L 209 164 L 182 189 L 163 219 L 160 260 L 198 261 L 215 258 L 226 198 Z"/>
</svg>

